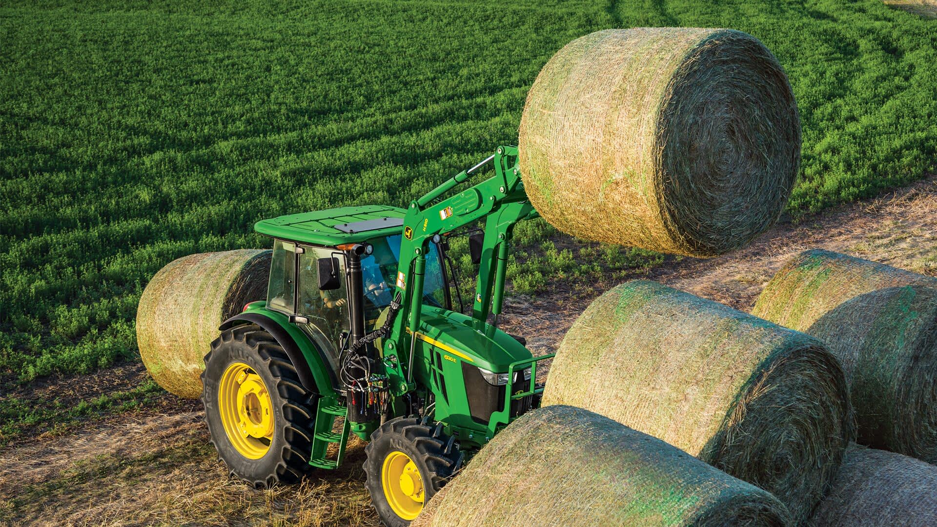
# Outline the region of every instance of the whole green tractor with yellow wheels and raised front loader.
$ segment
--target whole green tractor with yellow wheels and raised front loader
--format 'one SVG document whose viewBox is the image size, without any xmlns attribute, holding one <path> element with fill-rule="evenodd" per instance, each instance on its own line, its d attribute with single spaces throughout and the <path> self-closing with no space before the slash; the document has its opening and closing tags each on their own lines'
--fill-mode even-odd
<svg viewBox="0 0 937 527">
<path fill-rule="evenodd" d="M 489 163 L 494 175 L 446 197 Z M 498 328 L 513 227 L 537 217 L 516 163 L 516 147 L 498 147 L 408 209 L 257 223 L 274 238 L 267 299 L 221 325 L 201 377 L 231 474 L 295 482 L 341 465 L 355 434 L 368 442 L 380 519 L 408 525 L 468 457 L 540 405 L 537 365 L 553 355 Z M 453 309 L 447 240 L 482 220 L 469 235 L 479 272 L 468 315 Z"/>
</svg>

